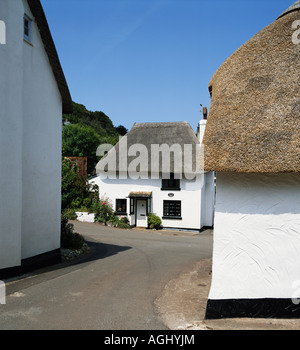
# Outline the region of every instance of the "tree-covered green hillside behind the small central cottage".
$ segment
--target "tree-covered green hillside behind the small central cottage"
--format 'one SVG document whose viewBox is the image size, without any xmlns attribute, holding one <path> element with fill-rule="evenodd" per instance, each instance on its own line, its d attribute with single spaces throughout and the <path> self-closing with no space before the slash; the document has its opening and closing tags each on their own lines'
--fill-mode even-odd
<svg viewBox="0 0 300 350">
<path fill-rule="evenodd" d="M 62 155 L 87 157 L 88 174 L 92 175 L 98 162 L 99 145 L 115 145 L 119 136 L 127 133 L 123 125 L 115 127 L 111 119 L 101 111 L 89 111 L 82 104 L 73 102 L 73 114 L 63 115 Z"/>
</svg>

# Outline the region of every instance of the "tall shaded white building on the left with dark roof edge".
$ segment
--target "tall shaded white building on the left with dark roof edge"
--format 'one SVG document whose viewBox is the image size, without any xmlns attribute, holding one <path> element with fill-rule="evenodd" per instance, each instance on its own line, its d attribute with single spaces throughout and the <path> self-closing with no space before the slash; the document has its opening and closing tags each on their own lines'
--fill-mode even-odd
<svg viewBox="0 0 300 350">
<path fill-rule="evenodd" d="M 72 99 L 39 0 L 1 0 L 0 278 L 59 257 L 62 113 Z"/>
</svg>

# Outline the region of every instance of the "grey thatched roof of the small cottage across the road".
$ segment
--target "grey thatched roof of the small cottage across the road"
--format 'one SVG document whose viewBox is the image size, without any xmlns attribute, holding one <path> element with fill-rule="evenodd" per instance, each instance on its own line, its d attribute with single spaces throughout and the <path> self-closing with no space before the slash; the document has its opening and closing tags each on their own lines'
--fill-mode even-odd
<svg viewBox="0 0 300 350">
<path fill-rule="evenodd" d="M 130 149 L 134 150 L 132 146 L 137 145 L 137 150 L 140 149 L 139 145 L 142 145 L 146 152 L 147 157 L 147 167 L 148 171 L 155 172 L 155 169 L 158 170 L 158 173 L 161 174 L 164 169 L 162 162 L 166 158 L 162 158 L 161 153 L 152 152 L 152 146 L 156 145 L 157 147 L 161 145 L 167 145 L 170 150 L 182 150 L 182 167 L 180 171 L 178 170 L 178 162 L 174 163 L 173 152 L 170 152 L 170 172 L 175 173 L 188 173 L 187 169 L 195 171 L 197 168 L 196 162 L 196 145 L 199 145 L 199 140 L 196 137 L 195 132 L 191 128 L 188 122 L 169 122 L 169 123 L 135 123 L 132 129 L 120 140 L 120 142 L 114 147 L 112 152 L 116 154 L 116 171 L 118 172 L 127 172 L 128 165 L 137 157 L 141 159 L 146 159 L 145 154 L 133 154 L 128 155 Z M 184 145 L 191 145 L 192 152 L 189 154 L 189 157 L 184 158 Z M 174 148 L 172 148 L 174 147 Z M 168 148 L 166 148 L 168 150 Z M 103 157 L 105 162 L 108 159 L 112 159 L 112 152 L 108 152 L 106 157 Z M 122 152 L 127 152 L 127 164 L 122 163 L 124 157 Z M 176 153 L 178 155 L 179 153 Z M 158 156 L 157 156 L 158 155 Z M 121 164 L 119 162 L 121 160 Z M 151 163 L 152 161 L 152 163 Z M 166 165 L 166 163 L 164 163 Z M 187 167 L 183 169 L 183 166 Z M 97 170 L 99 167 L 97 166 Z M 137 171 L 141 171 L 140 167 L 137 168 Z"/>
</svg>

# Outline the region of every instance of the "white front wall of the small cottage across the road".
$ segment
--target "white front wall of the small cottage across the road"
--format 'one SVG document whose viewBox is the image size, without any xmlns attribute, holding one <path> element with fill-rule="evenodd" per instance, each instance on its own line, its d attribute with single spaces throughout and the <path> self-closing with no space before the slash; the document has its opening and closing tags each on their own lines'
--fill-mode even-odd
<svg viewBox="0 0 300 350">
<path fill-rule="evenodd" d="M 180 200 L 181 201 L 181 217 L 177 219 L 162 219 L 164 227 L 171 228 L 188 228 L 199 230 L 203 226 L 203 217 L 201 216 L 201 205 L 203 205 L 203 175 L 201 179 L 196 181 L 180 181 L 181 191 L 161 191 L 161 179 L 106 179 L 101 180 L 96 177 L 91 180 L 99 186 L 100 197 L 108 197 L 111 200 L 115 209 L 116 199 L 124 199 L 129 196 L 130 192 L 152 192 L 152 208 L 151 211 L 163 217 L 163 201 L 164 200 Z M 173 193 L 174 197 L 169 197 L 168 194 Z M 127 198 L 127 212 L 130 210 L 130 199 Z M 129 216 L 128 216 L 129 217 Z M 134 215 L 129 217 L 130 223 L 135 224 Z"/>
</svg>

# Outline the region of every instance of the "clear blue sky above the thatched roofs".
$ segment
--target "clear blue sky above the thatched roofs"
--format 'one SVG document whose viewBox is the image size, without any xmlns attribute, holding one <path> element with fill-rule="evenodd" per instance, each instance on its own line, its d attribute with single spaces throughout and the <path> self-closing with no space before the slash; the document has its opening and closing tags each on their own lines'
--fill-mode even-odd
<svg viewBox="0 0 300 350">
<path fill-rule="evenodd" d="M 115 126 L 188 121 L 241 45 L 293 0 L 42 0 L 73 101 Z"/>
</svg>

